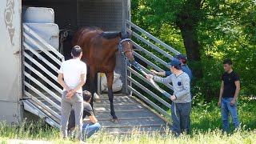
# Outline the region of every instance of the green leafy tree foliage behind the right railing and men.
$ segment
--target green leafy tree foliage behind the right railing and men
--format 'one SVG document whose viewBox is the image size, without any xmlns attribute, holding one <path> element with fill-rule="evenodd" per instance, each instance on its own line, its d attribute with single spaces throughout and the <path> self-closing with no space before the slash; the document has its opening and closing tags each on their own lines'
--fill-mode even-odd
<svg viewBox="0 0 256 144">
<path fill-rule="evenodd" d="M 194 77 L 192 85 L 192 94 L 199 98 L 198 101 L 218 97 L 225 58 L 233 60 L 234 70 L 240 75 L 241 94 L 256 94 L 254 0 L 133 0 L 131 8 L 132 22 L 183 54 L 188 54 L 188 51 L 178 23 L 196 27 L 201 62 L 192 61 L 188 65 L 194 76 L 198 75 L 198 69 L 203 72 L 202 78 Z M 142 42 L 138 44 L 164 61 L 170 61 Z M 154 59 L 150 61 L 154 62 Z"/>
</svg>

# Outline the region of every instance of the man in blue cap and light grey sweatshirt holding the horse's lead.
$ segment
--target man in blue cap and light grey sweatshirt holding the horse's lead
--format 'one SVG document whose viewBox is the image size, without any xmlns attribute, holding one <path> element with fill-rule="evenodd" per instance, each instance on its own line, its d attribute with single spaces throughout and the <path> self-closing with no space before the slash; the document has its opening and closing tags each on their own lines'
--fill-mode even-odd
<svg viewBox="0 0 256 144">
<path fill-rule="evenodd" d="M 182 63 L 174 58 L 170 62 L 170 71 L 172 73 L 170 76 L 161 78 L 151 74 L 146 75 L 147 79 L 153 78 L 155 82 L 172 82 L 174 94 L 170 96 L 172 100 L 170 110 L 173 121 L 171 130 L 177 135 L 188 132 L 191 112 L 190 77 L 182 71 L 181 65 Z"/>
</svg>

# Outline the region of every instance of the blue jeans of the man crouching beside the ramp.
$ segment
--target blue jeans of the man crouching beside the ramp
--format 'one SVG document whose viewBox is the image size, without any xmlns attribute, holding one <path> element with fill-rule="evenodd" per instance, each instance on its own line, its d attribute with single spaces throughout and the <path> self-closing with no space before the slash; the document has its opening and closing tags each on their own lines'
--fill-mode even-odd
<svg viewBox="0 0 256 144">
<path fill-rule="evenodd" d="M 82 135 L 83 138 L 90 138 L 91 135 L 94 133 L 98 132 L 100 130 L 101 125 L 96 122 L 96 123 L 84 123 L 82 126 Z"/>
</svg>

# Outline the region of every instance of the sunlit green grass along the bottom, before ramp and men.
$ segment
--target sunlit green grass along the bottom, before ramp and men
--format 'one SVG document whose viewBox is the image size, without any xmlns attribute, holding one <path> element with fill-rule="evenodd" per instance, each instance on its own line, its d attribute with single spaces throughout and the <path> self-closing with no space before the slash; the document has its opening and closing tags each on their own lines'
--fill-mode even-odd
<svg viewBox="0 0 256 144">
<path fill-rule="evenodd" d="M 192 109 L 192 131 L 190 135 L 178 138 L 171 134 L 125 134 L 110 135 L 102 130 L 97 138 L 89 138 L 89 143 L 256 143 L 256 106 L 255 100 L 242 98 L 238 102 L 238 115 L 242 122 L 241 130 L 231 130 L 228 134 L 221 131 L 221 109 L 217 102 L 198 103 Z M 233 127 L 231 125 L 231 128 Z M 63 140 L 58 129 L 46 125 L 44 122 L 26 121 L 18 125 L 7 125 L 0 122 L 0 142 L 7 143 L 7 139 L 44 140 L 53 143 L 78 143 L 71 139 Z"/>
</svg>

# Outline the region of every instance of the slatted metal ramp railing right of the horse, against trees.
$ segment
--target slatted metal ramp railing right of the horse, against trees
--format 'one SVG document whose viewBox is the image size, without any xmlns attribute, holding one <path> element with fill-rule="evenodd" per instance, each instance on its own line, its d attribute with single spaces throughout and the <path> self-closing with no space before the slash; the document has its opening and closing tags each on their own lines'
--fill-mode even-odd
<svg viewBox="0 0 256 144">
<path fill-rule="evenodd" d="M 134 51 L 135 58 L 138 58 L 141 62 L 146 63 L 147 66 L 152 67 L 154 70 L 164 71 L 159 66 L 162 66 L 162 67 L 166 66 L 167 68 L 170 68 L 170 66 L 167 66 L 167 63 L 164 60 L 162 60 L 161 58 L 158 58 L 158 56 L 151 53 L 146 48 L 155 50 L 159 54 L 162 54 L 164 57 L 169 59 L 173 59 L 173 56 L 167 53 L 165 50 L 162 50 L 160 47 L 163 47 L 164 49 L 170 51 L 174 55 L 180 54 L 177 50 L 174 50 L 174 48 L 166 45 L 166 43 L 160 41 L 158 38 L 155 38 L 153 35 L 147 33 L 145 30 L 142 30 L 142 28 L 134 25 L 134 23 L 128 20 L 126 20 L 126 26 L 127 26 L 126 28 L 127 32 L 129 32 L 133 36 L 132 38 L 133 45 L 139 51 L 139 52 Z M 141 43 L 141 45 L 139 45 L 137 42 Z M 142 70 L 144 70 L 147 74 L 150 74 L 150 70 L 148 70 L 145 66 L 142 66 L 142 65 L 140 66 Z M 141 98 L 144 102 L 154 107 L 154 109 L 157 110 L 160 114 L 163 114 L 167 118 L 170 118 L 170 114 L 168 114 L 166 110 L 162 109 L 160 106 L 158 106 L 157 104 L 155 104 L 150 100 L 150 99 L 155 99 L 158 102 L 161 102 L 161 105 L 166 106 L 167 108 L 170 109 L 170 103 L 164 100 L 163 98 L 164 96 L 162 94 L 160 95 L 155 94 L 152 91 L 153 90 L 152 88 L 155 88 L 154 85 L 150 83 L 145 78 L 144 75 L 139 74 L 132 67 L 126 66 L 126 70 L 127 70 L 126 79 L 128 81 L 127 89 L 130 90 L 130 95 L 132 94 L 137 95 L 138 98 Z M 173 87 L 170 84 L 163 84 L 163 85 L 173 90 Z M 137 88 L 134 88 L 134 87 L 137 87 Z"/>
</svg>

